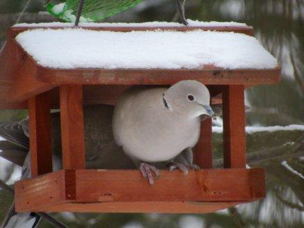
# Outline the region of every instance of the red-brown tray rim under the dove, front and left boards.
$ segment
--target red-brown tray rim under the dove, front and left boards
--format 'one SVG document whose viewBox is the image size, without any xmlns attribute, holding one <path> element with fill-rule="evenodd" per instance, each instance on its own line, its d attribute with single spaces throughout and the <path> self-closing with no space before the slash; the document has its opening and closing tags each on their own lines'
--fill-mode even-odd
<svg viewBox="0 0 304 228">
<path fill-rule="evenodd" d="M 105 202 L 99 204 L 97 211 L 140 212 L 138 205 L 144 202 L 162 202 L 158 211 L 171 208 L 163 202 L 249 202 L 264 197 L 264 188 L 260 186 L 264 186 L 264 170 L 253 168 L 191 170 L 186 176 L 180 170 L 161 170 L 160 179 L 155 180 L 153 186 L 138 170 L 60 170 L 18 181 L 15 188 L 18 212 L 45 211 L 49 206 L 60 211 L 64 207 L 59 204 L 67 202 L 75 205 L 69 211 L 87 211 L 92 209 L 92 203 Z M 35 200 L 37 197 L 39 202 Z M 130 207 L 123 209 L 125 202 L 134 204 L 125 204 Z M 155 208 L 142 210 L 153 212 Z M 189 213 L 187 209 L 172 212 Z"/>
</svg>

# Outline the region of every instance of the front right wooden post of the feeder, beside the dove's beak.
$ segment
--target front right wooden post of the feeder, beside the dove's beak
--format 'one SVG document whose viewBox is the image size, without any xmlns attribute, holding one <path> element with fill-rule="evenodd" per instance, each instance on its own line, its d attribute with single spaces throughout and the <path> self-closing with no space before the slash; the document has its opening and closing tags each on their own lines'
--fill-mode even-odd
<svg viewBox="0 0 304 228">
<path fill-rule="evenodd" d="M 223 86 L 223 166 L 246 167 L 244 86 Z"/>
</svg>

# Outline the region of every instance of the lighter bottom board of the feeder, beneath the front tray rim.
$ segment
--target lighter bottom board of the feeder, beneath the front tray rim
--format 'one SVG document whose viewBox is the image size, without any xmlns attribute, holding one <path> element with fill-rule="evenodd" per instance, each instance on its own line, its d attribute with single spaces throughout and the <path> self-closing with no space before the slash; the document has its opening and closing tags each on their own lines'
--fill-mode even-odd
<svg viewBox="0 0 304 228">
<path fill-rule="evenodd" d="M 244 202 L 102 202 L 64 203 L 47 206 L 39 211 L 83 213 L 211 213 Z"/>
</svg>

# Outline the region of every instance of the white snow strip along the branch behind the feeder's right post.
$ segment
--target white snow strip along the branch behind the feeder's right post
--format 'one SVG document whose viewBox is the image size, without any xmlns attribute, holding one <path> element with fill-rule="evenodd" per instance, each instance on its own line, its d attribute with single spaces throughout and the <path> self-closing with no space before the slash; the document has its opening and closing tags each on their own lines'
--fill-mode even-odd
<svg viewBox="0 0 304 228">
<path fill-rule="evenodd" d="M 255 133 L 262 131 L 304 131 L 304 125 L 292 124 L 288 126 L 270 126 L 270 127 L 255 127 L 248 126 L 245 127 L 246 133 Z M 214 133 L 223 133 L 223 127 L 212 127 L 212 132 Z"/>
</svg>

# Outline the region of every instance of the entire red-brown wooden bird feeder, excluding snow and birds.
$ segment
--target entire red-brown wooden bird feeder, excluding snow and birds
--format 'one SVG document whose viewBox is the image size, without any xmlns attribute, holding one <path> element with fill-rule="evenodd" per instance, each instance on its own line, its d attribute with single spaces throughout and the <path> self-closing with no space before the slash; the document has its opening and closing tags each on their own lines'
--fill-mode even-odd
<svg viewBox="0 0 304 228">
<path fill-rule="evenodd" d="M 73 211 L 207 213 L 265 196 L 264 169 L 246 169 L 244 89 L 278 83 L 280 66 L 225 70 L 61 69 L 43 67 L 16 41 L 19 33 L 46 26 L 12 26 L 0 56 L 1 108 L 28 108 L 31 179 L 15 184 L 17 212 Z M 62 29 L 62 27 L 50 27 Z M 253 35 L 251 26 L 96 26 L 95 31 L 222 31 Z M 131 85 L 171 85 L 194 79 L 223 104 L 223 168 L 212 169 L 212 125 L 205 120 L 195 148 L 201 170 L 161 170 L 153 186 L 138 170 L 85 170 L 83 104 L 115 104 Z M 60 108 L 63 169 L 52 172 L 51 108 Z"/>
</svg>

